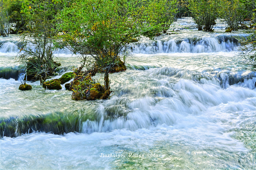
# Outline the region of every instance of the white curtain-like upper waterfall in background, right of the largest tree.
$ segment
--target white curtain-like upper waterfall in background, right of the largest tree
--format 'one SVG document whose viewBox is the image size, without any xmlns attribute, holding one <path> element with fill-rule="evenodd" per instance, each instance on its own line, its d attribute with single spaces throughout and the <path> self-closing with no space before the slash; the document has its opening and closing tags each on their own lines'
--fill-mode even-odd
<svg viewBox="0 0 256 170">
<path fill-rule="evenodd" d="M 247 34 L 214 34 L 212 36 L 193 36 L 187 37 L 174 35 L 163 35 L 156 41 L 142 41 L 130 48 L 134 53 L 155 54 L 155 53 L 175 53 L 175 52 L 220 52 L 233 51 L 239 45 L 236 36 L 247 36 Z"/>
</svg>

